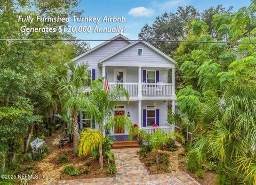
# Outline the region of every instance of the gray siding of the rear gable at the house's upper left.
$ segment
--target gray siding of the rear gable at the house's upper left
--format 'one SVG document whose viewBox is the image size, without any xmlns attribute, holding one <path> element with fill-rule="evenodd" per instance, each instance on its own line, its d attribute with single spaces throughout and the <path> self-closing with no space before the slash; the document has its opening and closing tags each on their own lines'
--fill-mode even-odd
<svg viewBox="0 0 256 185">
<path fill-rule="evenodd" d="M 118 38 L 118 40 L 124 40 L 124 39 Z M 112 41 L 112 42 L 106 44 L 105 46 L 102 46 L 102 47 L 96 49 L 92 53 L 89 53 L 89 54 L 83 56 L 82 58 L 79 58 L 78 60 L 76 60 L 76 62 L 77 63 L 86 63 L 87 62 L 89 64 L 89 69 L 95 69 L 95 78 L 102 77 L 102 69 L 99 68 L 98 61 L 101 58 L 104 58 L 104 57 L 110 55 L 111 53 L 114 53 L 118 49 L 121 49 L 128 44 L 129 43 L 125 40 L 124 41 Z"/>
</svg>

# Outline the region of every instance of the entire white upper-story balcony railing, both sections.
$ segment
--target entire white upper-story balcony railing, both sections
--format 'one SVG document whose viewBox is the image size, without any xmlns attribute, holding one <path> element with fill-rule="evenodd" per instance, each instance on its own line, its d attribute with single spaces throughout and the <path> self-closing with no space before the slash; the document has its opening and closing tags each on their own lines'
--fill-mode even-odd
<svg viewBox="0 0 256 185">
<path fill-rule="evenodd" d="M 116 83 L 108 83 L 109 89 L 113 90 Z M 119 86 L 124 87 L 130 96 L 137 96 L 139 94 L 139 83 L 117 83 Z M 145 96 L 171 96 L 172 84 L 171 83 L 142 83 L 141 94 Z"/>
</svg>

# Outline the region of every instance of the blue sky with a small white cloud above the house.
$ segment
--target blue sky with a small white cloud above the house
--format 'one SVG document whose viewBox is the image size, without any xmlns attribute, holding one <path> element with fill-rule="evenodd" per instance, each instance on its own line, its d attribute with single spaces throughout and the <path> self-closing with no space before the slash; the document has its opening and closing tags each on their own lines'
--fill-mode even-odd
<svg viewBox="0 0 256 185">
<path fill-rule="evenodd" d="M 210 6 L 217 6 L 223 4 L 225 7 L 233 6 L 234 11 L 240 7 L 250 5 L 250 0 L 82 0 L 79 5 L 79 10 L 84 10 L 82 16 L 101 17 L 109 16 L 124 16 L 126 21 L 124 23 L 102 23 L 99 27 L 115 27 L 126 26 L 124 35 L 129 39 L 138 39 L 140 29 L 147 23 L 152 24 L 156 16 L 161 16 L 164 12 L 175 12 L 178 6 L 193 5 L 196 9 L 202 11 Z M 95 23 L 70 23 L 70 26 L 95 26 Z M 117 33 L 76 33 L 74 34 L 78 39 L 109 39 L 117 35 Z M 94 47 L 101 42 L 91 41 L 91 47 Z"/>
</svg>

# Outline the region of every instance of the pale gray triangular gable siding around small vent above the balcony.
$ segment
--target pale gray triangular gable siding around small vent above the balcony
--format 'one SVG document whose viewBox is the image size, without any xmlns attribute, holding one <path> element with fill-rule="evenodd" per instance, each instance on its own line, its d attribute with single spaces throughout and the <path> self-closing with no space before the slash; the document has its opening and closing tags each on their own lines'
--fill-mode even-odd
<svg viewBox="0 0 256 185">
<path fill-rule="evenodd" d="M 138 48 L 143 49 L 143 55 L 138 55 Z M 134 66 L 147 66 L 149 63 L 154 64 L 170 64 L 170 61 L 159 55 L 152 49 L 148 48 L 144 44 L 138 43 L 130 48 L 125 49 L 121 53 L 116 54 L 113 57 L 108 58 L 106 61 L 103 61 L 103 65 L 108 65 L 108 63 L 133 63 Z"/>
</svg>

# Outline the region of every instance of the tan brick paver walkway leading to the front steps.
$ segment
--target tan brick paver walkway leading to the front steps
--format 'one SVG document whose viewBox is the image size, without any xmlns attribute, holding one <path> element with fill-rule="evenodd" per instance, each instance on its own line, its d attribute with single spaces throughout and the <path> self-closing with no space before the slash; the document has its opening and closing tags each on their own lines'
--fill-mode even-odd
<svg viewBox="0 0 256 185">
<path fill-rule="evenodd" d="M 149 175 L 136 152 L 139 148 L 113 149 L 117 174 L 114 178 L 76 179 L 46 184 L 199 184 L 185 172 Z"/>
</svg>

